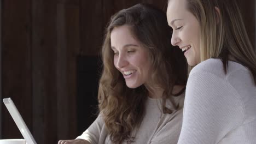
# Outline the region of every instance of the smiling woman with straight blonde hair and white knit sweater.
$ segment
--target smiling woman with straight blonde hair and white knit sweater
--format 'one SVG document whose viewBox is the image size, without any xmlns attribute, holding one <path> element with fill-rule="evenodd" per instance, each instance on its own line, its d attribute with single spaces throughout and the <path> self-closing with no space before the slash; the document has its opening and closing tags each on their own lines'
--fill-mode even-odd
<svg viewBox="0 0 256 144">
<path fill-rule="evenodd" d="M 178 144 L 256 142 L 256 55 L 235 0 L 169 0 L 190 71 Z"/>
</svg>

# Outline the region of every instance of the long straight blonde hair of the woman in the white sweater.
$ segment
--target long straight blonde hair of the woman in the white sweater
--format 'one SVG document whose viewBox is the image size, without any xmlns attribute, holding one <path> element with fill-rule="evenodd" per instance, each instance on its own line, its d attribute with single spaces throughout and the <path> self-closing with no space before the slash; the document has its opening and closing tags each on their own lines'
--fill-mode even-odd
<svg viewBox="0 0 256 144">
<path fill-rule="evenodd" d="M 226 73 L 228 61 L 236 61 L 251 71 L 256 85 L 256 55 L 236 1 L 187 0 L 187 8 L 201 26 L 201 62 L 220 58 Z"/>
</svg>

